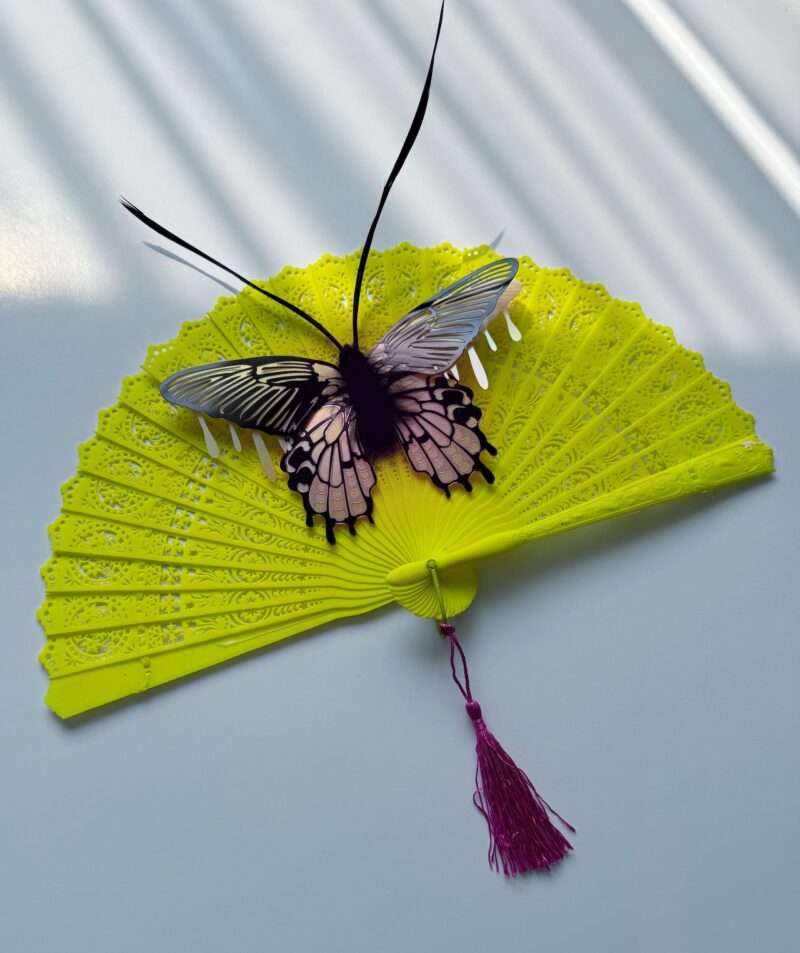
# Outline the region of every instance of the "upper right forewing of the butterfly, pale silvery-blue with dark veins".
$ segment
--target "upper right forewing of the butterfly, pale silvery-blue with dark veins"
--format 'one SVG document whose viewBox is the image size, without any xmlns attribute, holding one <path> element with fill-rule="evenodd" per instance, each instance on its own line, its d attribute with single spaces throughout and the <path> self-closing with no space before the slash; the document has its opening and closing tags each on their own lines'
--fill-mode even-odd
<svg viewBox="0 0 800 953">
<path fill-rule="evenodd" d="M 372 348 L 370 364 L 381 373 L 443 373 L 517 293 L 518 267 L 499 258 L 423 302 Z"/>
</svg>

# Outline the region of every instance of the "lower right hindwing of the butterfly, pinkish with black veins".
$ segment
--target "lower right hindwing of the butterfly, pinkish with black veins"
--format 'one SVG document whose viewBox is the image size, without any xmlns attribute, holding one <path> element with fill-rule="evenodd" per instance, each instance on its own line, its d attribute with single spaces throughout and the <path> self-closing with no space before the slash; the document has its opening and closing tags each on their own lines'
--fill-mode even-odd
<svg viewBox="0 0 800 953">
<path fill-rule="evenodd" d="M 455 483 L 471 491 L 469 478 L 475 472 L 494 482 L 480 456 L 484 450 L 497 451 L 478 426 L 481 411 L 468 387 L 443 376 L 404 374 L 390 384 L 389 393 L 395 433 L 415 470 L 427 473 L 447 496 Z"/>
</svg>

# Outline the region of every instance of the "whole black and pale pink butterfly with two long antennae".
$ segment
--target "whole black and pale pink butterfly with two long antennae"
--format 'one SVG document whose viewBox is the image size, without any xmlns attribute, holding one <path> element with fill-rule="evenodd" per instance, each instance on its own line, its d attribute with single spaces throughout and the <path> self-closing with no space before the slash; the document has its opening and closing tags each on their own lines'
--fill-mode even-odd
<svg viewBox="0 0 800 953">
<path fill-rule="evenodd" d="M 288 308 L 338 349 L 336 364 L 273 355 L 240 358 L 186 368 L 161 384 L 161 394 L 173 404 L 282 438 L 281 468 L 288 474 L 289 486 L 302 497 L 309 526 L 315 517 L 324 519 L 330 543 L 336 541 L 337 525 L 345 524 L 354 534 L 359 519 L 372 521 L 373 463 L 398 446 L 410 466 L 427 474 L 448 496 L 456 484 L 471 490 L 474 473 L 488 482 L 494 479 L 481 454 L 496 451 L 480 429 L 481 411 L 472 401 L 472 391 L 454 379 L 455 364 L 468 351 L 479 382 L 484 383 L 472 344 L 519 291 L 517 260 L 490 262 L 423 301 L 369 351 L 362 351 L 358 342 L 367 258 L 389 190 L 422 125 L 443 12 L 444 3 L 422 95 L 359 259 L 351 344 L 341 344 L 302 308 L 254 284 L 121 200 L 149 228 Z M 516 329 L 508 320 L 513 338 Z"/>
</svg>

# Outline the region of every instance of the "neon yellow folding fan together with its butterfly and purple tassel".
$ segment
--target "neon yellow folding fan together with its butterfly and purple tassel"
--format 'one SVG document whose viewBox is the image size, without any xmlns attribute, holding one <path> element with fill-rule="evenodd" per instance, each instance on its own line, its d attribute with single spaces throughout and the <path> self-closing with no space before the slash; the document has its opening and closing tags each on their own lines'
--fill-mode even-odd
<svg viewBox="0 0 800 953">
<path fill-rule="evenodd" d="M 472 696 L 448 620 L 475 595 L 475 564 L 766 474 L 772 454 L 698 354 L 600 285 L 527 258 L 512 284 L 517 263 L 488 247 L 403 244 L 374 252 L 365 269 L 422 121 L 432 67 L 364 250 L 246 282 L 152 347 L 143 371 L 101 412 L 50 528 L 41 660 L 48 704 L 70 717 L 397 602 L 436 620 L 447 640 L 476 730 L 474 799 L 489 826 L 489 859 L 514 875 L 551 866 L 570 845 Z M 366 413 L 363 395 L 360 403 L 343 396 L 337 377 L 351 323 L 380 364 L 384 389 L 397 388 L 388 403 L 374 391 L 366 401 L 394 421 L 388 448 L 359 443 L 360 424 L 347 416 L 350 398 Z M 436 369 L 420 370 L 411 350 L 402 352 L 420 323 L 438 349 Z M 261 403 L 251 394 L 256 378 Z M 308 409 L 301 397 L 313 407 L 306 417 L 294 413 Z M 335 411 L 325 409 L 331 404 Z M 253 415 L 265 407 L 259 424 Z M 489 441 L 496 456 L 483 462 Z M 338 471 L 325 456 L 331 447 Z M 281 457 L 288 476 L 274 465 Z M 353 470 L 360 497 L 348 492 Z"/>
</svg>

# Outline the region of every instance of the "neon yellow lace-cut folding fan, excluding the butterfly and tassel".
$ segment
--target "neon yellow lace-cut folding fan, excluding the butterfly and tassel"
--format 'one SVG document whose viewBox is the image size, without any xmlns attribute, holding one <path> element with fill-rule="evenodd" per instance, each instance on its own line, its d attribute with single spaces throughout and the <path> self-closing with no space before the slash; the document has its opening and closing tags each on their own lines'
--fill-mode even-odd
<svg viewBox="0 0 800 953">
<path fill-rule="evenodd" d="M 447 245 L 374 252 L 367 343 L 494 257 Z M 264 287 L 345 335 L 357 265 L 356 255 L 325 256 Z M 305 526 L 285 474 L 265 472 L 280 458 L 277 438 L 239 441 L 209 420 L 212 457 L 195 415 L 158 386 L 195 364 L 332 358 L 333 348 L 249 289 L 151 348 L 80 448 L 50 528 L 39 618 L 52 709 L 75 715 L 391 602 L 438 617 L 431 559 L 455 615 L 475 594 L 476 564 L 494 553 L 772 470 L 750 415 L 669 329 L 566 271 L 523 258 L 518 278 L 511 323 L 492 331 L 496 350 L 480 348 L 488 390 L 468 360 L 460 368 L 498 450 L 495 482 L 447 499 L 392 455 L 376 466 L 374 525 L 337 532 L 335 546 Z"/>
</svg>

